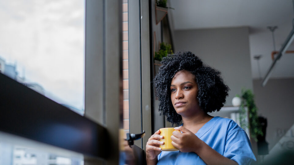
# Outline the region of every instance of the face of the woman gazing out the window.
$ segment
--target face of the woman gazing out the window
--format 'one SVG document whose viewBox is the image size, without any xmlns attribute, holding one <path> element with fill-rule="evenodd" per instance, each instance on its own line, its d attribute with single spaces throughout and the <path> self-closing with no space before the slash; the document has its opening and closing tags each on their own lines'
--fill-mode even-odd
<svg viewBox="0 0 294 165">
<path fill-rule="evenodd" d="M 175 111 L 181 116 L 190 116 L 200 110 L 198 85 L 195 76 L 189 71 L 182 70 L 171 80 L 171 102 Z"/>
</svg>

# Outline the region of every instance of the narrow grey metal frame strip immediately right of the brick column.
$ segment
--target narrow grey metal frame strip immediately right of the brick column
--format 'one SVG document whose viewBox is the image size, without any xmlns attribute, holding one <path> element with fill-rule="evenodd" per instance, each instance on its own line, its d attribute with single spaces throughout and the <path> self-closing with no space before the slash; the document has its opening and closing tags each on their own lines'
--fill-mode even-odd
<svg viewBox="0 0 294 165">
<path fill-rule="evenodd" d="M 129 31 L 129 132 L 142 132 L 141 109 L 141 39 L 140 39 L 140 1 L 128 2 Z M 134 141 L 142 148 L 142 140 Z"/>
</svg>

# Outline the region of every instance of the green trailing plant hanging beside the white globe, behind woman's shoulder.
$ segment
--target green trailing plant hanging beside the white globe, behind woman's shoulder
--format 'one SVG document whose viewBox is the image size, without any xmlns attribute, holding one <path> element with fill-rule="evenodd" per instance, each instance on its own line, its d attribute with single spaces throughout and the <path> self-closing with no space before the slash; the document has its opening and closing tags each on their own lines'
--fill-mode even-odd
<svg viewBox="0 0 294 165">
<path fill-rule="evenodd" d="M 247 126 L 246 122 L 246 110 L 245 107 L 248 108 L 248 114 L 249 114 L 249 129 L 251 137 L 254 138 L 255 141 L 257 140 L 257 137 L 263 136 L 262 133 L 262 127 L 258 121 L 257 111 L 258 108 L 256 107 L 254 103 L 254 94 L 251 90 L 245 90 L 242 89 L 241 92 L 241 105 L 240 105 L 240 124 L 243 129 L 245 129 Z"/>
</svg>

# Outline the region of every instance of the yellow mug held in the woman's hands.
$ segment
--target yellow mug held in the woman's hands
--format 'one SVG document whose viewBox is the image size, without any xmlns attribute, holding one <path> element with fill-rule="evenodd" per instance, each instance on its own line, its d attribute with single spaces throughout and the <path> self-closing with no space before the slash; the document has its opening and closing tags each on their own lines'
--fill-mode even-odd
<svg viewBox="0 0 294 165">
<path fill-rule="evenodd" d="M 164 144 L 160 145 L 159 147 L 162 149 L 162 151 L 177 151 L 179 149 L 175 148 L 171 144 L 171 135 L 173 131 L 178 131 L 175 130 L 174 128 L 160 128 L 160 135 L 163 136 L 163 139 L 160 139 L 159 141 L 163 141 Z M 181 132 L 181 131 L 179 131 Z"/>
</svg>

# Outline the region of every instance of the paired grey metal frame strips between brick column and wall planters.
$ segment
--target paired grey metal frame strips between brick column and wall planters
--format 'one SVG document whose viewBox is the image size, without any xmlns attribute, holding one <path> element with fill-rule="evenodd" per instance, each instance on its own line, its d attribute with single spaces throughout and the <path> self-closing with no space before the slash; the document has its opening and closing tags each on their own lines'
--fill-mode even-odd
<svg viewBox="0 0 294 165">
<path fill-rule="evenodd" d="M 152 133 L 153 87 L 150 54 L 150 1 L 129 0 L 129 113 L 130 133 L 145 130 L 145 137 L 134 142 L 145 150 Z M 146 7 L 147 6 L 147 7 Z"/>
</svg>

